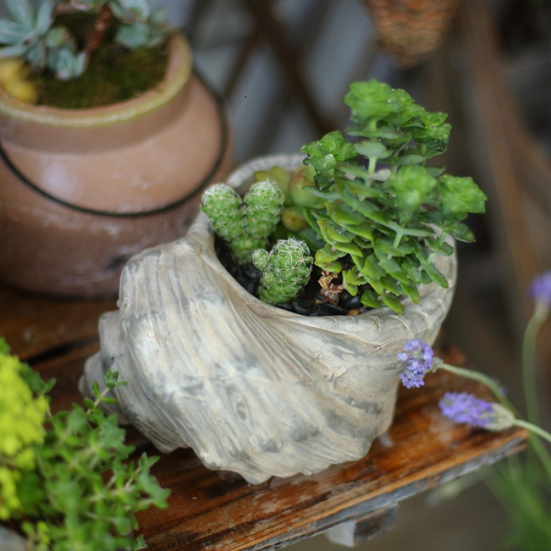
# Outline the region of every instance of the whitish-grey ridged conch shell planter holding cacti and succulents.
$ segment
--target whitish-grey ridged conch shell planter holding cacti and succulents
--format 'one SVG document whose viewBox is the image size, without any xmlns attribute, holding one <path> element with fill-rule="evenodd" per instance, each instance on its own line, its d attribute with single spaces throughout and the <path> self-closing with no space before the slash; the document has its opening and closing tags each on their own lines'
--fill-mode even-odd
<svg viewBox="0 0 551 551">
<path fill-rule="evenodd" d="M 255 160 L 228 181 L 246 183 L 275 163 L 284 159 Z M 207 467 L 253 484 L 360 459 L 393 421 L 397 353 L 414 337 L 432 343 L 448 312 L 456 258 L 437 262 L 450 287 L 422 287 L 402 315 L 308 317 L 245 291 L 200 214 L 186 238 L 127 263 L 81 390 L 119 371 L 128 381 L 115 391 L 121 421 L 163 452 L 191 446 Z"/>
</svg>

